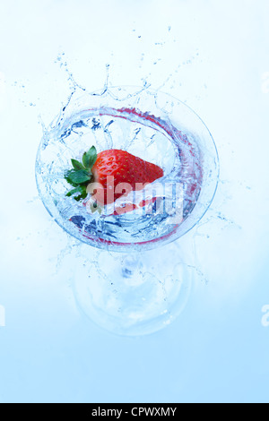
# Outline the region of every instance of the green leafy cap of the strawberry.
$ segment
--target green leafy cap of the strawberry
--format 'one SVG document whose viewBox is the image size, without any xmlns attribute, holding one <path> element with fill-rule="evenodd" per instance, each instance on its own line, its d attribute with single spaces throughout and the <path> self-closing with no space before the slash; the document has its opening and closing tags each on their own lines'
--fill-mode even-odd
<svg viewBox="0 0 269 421">
<path fill-rule="evenodd" d="M 93 181 L 91 168 L 94 166 L 96 159 L 97 150 L 95 146 L 91 146 L 88 152 L 83 153 L 82 162 L 71 159 L 73 168 L 65 172 L 65 180 L 74 188 L 65 194 L 67 197 L 79 193 L 74 196 L 74 200 L 77 202 L 87 197 L 87 186 Z"/>
</svg>

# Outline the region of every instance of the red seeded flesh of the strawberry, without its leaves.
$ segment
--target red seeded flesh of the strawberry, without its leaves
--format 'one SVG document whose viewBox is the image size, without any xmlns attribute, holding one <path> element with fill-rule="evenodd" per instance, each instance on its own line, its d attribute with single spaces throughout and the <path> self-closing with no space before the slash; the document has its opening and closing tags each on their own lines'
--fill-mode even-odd
<svg viewBox="0 0 269 421">
<path fill-rule="evenodd" d="M 98 189 L 94 195 L 101 204 L 115 202 L 131 190 L 142 190 L 143 185 L 163 176 L 160 167 L 126 150 L 103 150 L 98 154 L 91 172 L 94 182 L 103 186 L 103 193 Z"/>
</svg>

